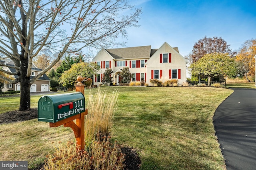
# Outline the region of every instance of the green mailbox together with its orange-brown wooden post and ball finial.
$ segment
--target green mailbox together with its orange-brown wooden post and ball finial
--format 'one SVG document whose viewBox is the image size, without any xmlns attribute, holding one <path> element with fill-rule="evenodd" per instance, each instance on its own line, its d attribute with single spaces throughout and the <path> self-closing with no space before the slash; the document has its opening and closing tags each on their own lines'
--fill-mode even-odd
<svg viewBox="0 0 256 170">
<path fill-rule="evenodd" d="M 84 116 L 88 110 L 84 100 L 85 85 L 81 83 L 83 77 L 78 76 L 77 80 L 75 93 L 42 96 L 39 99 L 38 121 L 50 122 L 50 127 L 70 127 L 74 131 L 76 144 L 84 150 Z"/>
</svg>

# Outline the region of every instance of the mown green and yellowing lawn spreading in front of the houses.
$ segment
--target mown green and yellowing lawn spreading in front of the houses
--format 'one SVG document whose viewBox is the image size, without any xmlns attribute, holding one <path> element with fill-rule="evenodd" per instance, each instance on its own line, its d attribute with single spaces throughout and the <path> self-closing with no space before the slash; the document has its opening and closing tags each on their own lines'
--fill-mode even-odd
<svg viewBox="0 0 256 170">
<path fill-rule="evenodd" d="M 136 149 L 142 170 L 225 169 L 212 117 L 232 90 L 207 87 L 101 89 L 112 92 L 116 88 L 120 95 L 112 140 Z M 92 89 L 94 91 L 97 89 Z M 86 101 L 88 94 L 86 90 Z M 32 106 L 39 98 L 35 96 Z M 9 99 L 1 98 L 0 107 L 5 107 L 5 100 Z M 49 123 L 36 119 L 0 125 L 0 133 L 0 160 L 29 160 L 30 167 L 53 152 L 52 141 L 74 139 L 70 128 L 51 128 Z"/>
</svg>

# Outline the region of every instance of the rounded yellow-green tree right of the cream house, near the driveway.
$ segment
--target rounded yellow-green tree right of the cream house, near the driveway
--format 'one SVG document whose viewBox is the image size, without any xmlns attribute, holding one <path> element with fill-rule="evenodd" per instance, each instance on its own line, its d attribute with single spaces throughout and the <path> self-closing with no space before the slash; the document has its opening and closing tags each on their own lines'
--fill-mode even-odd
<svg viewBox="0 0 256 170">
<path fill-rule="evenodd" d="M 206 54 L 195 63 L 190 65 L 192 74 L 202 74 L 208 76 L 208 86 L 212 82 L 212 78 L 219 75 L 228 74 L 235 66 L 234 59 L 228 54 L 212 53 Z"/>
</svg>

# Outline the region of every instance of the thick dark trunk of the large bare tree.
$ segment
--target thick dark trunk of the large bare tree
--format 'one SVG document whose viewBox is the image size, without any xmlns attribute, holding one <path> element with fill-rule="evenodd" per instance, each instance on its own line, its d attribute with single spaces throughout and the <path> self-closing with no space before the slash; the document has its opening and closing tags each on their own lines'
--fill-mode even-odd
<svg viewBox="0 0 256 170">
<path fill-rule="evenodd" d="M 20 111 L 30 109 L 30 77 L 27 77 L 28 59 L 21 58 L 20 67 Z M 23 60 L 22 60 L 23 59 Z"/>
</svg>

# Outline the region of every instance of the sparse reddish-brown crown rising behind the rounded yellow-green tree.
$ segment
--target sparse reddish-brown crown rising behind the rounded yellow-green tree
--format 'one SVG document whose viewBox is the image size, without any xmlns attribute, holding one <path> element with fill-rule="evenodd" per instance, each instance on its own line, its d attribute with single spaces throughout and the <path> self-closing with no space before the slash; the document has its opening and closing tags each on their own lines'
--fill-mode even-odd
<svg viewBox="0 0 256 170">
<path fill-rule="evenodd" d="M 229 46 L 221 37 L 208 38 L 205 36 L 194 44 L 191 54 L 192 61 L 194 63 L 204 55 L 211 53 L 228 53 L 230 57 L 233 57 L 235 53 L 231 51 Z"/>
</svg>

